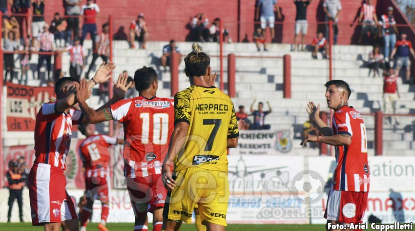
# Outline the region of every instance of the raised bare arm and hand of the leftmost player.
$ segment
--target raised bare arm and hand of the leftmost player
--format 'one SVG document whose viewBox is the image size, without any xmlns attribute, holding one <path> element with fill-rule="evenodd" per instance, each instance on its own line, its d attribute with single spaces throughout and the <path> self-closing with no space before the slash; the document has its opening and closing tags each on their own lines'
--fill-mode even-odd
<svg viewBox="0 0 415 231">
<path fill-rule="evenodd" d="M 115 68 L 114 63 L 102 63 L 101 66 L 98 68 L 97 72 L 95 73 L 95 76 L 87 82 L 86 88 L 84 91 L 85 93 L 88 93 L 91 91 L 92 87 L 95 86 L 95 84 L 105 83 L 111 76 L 109 76 L 109 73 Z M 64 91 L 68 91 L 68 95 L 63 98 L 63 100 L 59 100 L 55 105 L 55 111 L 58 113 L 62 113 L 63 111 L 69 109 L 73 105 L 75 105 L 77 102 L 77 99 L 75 97 L 75 93 L 77 91 L 77 88 L 79 87 L 79 84 L 75 84 L 76 87 L 70 87 L 67 90 L 63 89 Z M 85 100 L 89 98 L 89 95 L 85 96 Z"/>
</svg>

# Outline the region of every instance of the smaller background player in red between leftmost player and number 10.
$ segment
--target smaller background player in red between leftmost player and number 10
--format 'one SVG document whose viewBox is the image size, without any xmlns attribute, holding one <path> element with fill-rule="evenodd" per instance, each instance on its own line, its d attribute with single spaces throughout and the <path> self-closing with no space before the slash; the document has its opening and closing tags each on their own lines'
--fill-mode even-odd
<svg viewBox="0 0 415 231">
<path fill-rule="evenodd" d="M 110 154 L 108 148 L 124 144 L 124 139 L 109 137 L 106 135 L 95 135 L 95 125 L 78 125 L 78 130 L 86 136 L 79 146 L 79 154 L 85 168 L 86 205 L 81 213 L 81 231 L 86 230 L 89 216 L 92 212 L 94 200 L 99 199 L 102 204 L 101 222 L 98 224 L 99 231 L 108 231 L 105 227 L 109 214 L 109 165 Z"/>
</svg>

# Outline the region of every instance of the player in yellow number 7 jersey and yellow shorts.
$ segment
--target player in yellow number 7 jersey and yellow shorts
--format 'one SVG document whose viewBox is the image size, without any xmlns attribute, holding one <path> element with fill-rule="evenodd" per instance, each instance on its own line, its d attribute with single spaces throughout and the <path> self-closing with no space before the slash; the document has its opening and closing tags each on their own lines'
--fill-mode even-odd
<svg viewBox="0 0 415 231">
<path fill-rule="evenodd" d="M 210 57 L 197 43 L 192 48 L 185 58 L 190 87 L 174 96 L 175 126 L 163 164 L 163 183 L 169 190 L 163 230 L 176 231 L 182 222 L 190 223 L 197 204 L 207 231 L 224 231 L 227 148 L 237 146 L 239 130 L 229 96 L 212 86 Z"/>
</svg>

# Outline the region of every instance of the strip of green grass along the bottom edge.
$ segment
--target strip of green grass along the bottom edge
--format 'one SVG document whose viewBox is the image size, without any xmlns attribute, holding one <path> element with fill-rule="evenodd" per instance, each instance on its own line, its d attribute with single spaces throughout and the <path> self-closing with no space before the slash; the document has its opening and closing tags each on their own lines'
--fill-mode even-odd
<svg viewBox="0 0 415 231">
<path fill-rule="evenodd" d="M 131 231 L 132 223 L 108 223 L 110 231 Z M 148 230 L 152 230 L 151 224 Z M 42 231 L 43 227 L 33 227 L 30 223 L 0 223 L 1 231 Z M 96 231 L 97 223 L 88 224 L 88 231 Z M 324 225 L 228 225 L 227 231 L 325 231 Z M 196 231 L 193 224 L 183 224 L 181 231 Z"/>
</svg>

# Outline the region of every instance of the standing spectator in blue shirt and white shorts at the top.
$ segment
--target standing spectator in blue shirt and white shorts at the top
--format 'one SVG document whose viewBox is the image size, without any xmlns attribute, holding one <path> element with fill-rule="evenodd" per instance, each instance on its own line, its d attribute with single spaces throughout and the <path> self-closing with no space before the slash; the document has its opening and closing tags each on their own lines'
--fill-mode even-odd
<svg viewBox="0 0 415 231">
<path fill-rule="evenodd" d="M 261 11 L 260 11 L 261 9 Z M 278 19 L 281 19 L 280 8 L 277 5 L 277 0 L 257 0 L 255 9 L 255 18 L 261 21 L 261 29 L 266 33 L 267 24 L 270 28 L 271 42 L 275 38 L 275 15 L 274 10 L 277 12 Z M 260 14 L 261 12 L 261 14 Z"/>
</svg>

